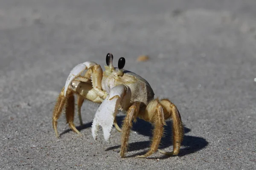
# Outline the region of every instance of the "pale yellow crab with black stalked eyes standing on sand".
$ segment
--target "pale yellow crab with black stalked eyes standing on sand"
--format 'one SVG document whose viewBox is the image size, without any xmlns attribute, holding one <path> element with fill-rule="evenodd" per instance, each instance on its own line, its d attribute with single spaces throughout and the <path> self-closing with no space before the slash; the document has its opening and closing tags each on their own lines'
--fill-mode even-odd
<svg viewBox="0 0 256 170">
<path fill-rule="evenodd" d="M 80 125 L 81 106 L 85 99 L 101 103 L 96 111 L 92 123 L 92 136 L 97 140 L 99 126 L 102 127 L 104 139 L 110 143 L 111 129 L 113 125 L 122 132 L 121 157 L 125 157 L 128 148 L 128 139 L 132 123 L 137 118 L 143 119 L 154 125 L 153 137 L 150 149 L 144 155 L 137 156 L 146 158 L 159 150 L 167 155 L 177 155 L 183 139 L 183 123 L 177 107 L 169 99 L 154 99 L 154 92 L 149 83 L 139 75 L 124 70 L 125 58 L 118 61 L 118 68 L 113 67 L 113 55 L 106 56 L 105 71 L 96 62 L 84 62 L 76 65 L 67 78 L 65 86 L 58 96 L 52 116 L 52 125 L 58 137 L 57 120 L 65 108 L 67 123 L 70 128 L 81 134 L 76 129 L 74 121 L 75 98 Z M 118 110 L 126 112 L 122 129 L 116 123 Z M 166 152 L 158 149 L 164 132 L 166 119 L 172 119 L 173 151 Z"/>
</svg>

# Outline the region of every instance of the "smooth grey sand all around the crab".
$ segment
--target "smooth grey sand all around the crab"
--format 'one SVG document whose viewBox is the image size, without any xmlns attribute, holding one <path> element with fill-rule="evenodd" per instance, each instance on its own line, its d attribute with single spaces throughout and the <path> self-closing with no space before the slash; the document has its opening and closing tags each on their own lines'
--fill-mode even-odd
<svg viewBox="0 0 256 170">
<path fill-rule="evenodd" d="M 255 0 L 1 0 L 0 169 L 255 168 L 255 9 Z M 185 125 L 178 156 L 136 158 L 152 130 L 138 120 L 121 159 L 115 128 L 110 144 L 102 131 L 93 140 L 91 102 L 84 125 L 75 118 L 83 136 L 62 115 L 55 138 L 52 109 L 70 70 L 91 60 L 103 67 L 108 52 L 177 105 Z M 150 59 L 136 62 L 140 55 Z"/>
</svg>

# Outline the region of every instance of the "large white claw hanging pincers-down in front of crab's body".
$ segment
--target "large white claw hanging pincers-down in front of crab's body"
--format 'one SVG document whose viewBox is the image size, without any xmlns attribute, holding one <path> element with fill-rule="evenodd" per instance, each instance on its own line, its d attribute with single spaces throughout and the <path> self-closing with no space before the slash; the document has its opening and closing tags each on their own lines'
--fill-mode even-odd
<svg viewBox="0 0 256 170">
<path fill-rule="evenodd" d="M 92 134 L 93 139 L 97 139 L 97 134 L 99 126 L 102 127 L 104 139 L 106 142 L 110 143 L 110 132 L 113 127 L 113 122 L 116 117 L 118 106 L 123 99 L 124 94 L 127 95 L 127 92 L 131 93 L 131 90 L 128 90 L 128 87 L 125 85 L 118 85 L 111 89 L 110 94 L 99 106 L 96 111 L 95 117 L 93 119 L 92 125 Z M 129 94 L 131 95 L 131 94 Z"/>
</svg>

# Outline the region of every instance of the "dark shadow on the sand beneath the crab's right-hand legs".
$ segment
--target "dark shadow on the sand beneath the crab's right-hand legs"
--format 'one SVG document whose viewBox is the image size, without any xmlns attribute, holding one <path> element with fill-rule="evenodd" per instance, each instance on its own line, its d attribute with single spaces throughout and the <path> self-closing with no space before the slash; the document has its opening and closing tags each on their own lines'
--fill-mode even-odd
<svg viewBox="0 0 256 170">
<path fill-rule="evenodd" d="M 124 119 L 124 116 L 116 117 L 119 127 L 121 127 L 123 119 Z M 162 137 L 159 149 L 164 149 L 164 148 L 172 145 L 172 121 L 168 120 L 168 121 L 166 121 L 166 124 L 167 125 L 164 126 L 164 132 L 166 135 L 164 135 Z M 132 130 L 136 131 L 137 133 L 139 133 L 143 136 L 149 136 L 150 140 L 143 141 L 143 142 L 129 143 L 129 148 L 127 151 L 129 152 L 129 151 L 143 150 L 143 149 L 149 148 L 150 144 L 151 144 L 150 142 L 151 142 L 152 130 L 153 130 L 153 126 L 151 125 L 151 123 L 145 122 L 142 119 L 137 119 L 137 122 L 133 123 Z M 189 128 L 184 127 L 184 134 L 186 134 L 190 131 L 191 130 Z M 188 155 L 191 153 L 195 153 L 198 150 L 201 150 L 204 147 L 206 147 L 208 145 L 208 142 L 204 138 L 201 138 L 201 137 L 184 135 L 183 142 L 181 143 L 181 145 L 184 147 L 180 149 L 180 153 L 178 154 L 178 156 L 185 156 L 185 155 Z M 117 149 L 120 147 L 121 147 L 121 145 L 109 147 L 106 149 L 106 151 Z M 143 151 L 141 153 L 135 153 L 134 155 L 127 156 L 127 157 L 134 157 L 137 155 L 143 155 L 145 153 L 146 153 L 146 151 Z M 166 159 L 168 157 L 169 156 L 167 156 L 167 155 L 163 155 L 159 159 Z"/>
</svg>

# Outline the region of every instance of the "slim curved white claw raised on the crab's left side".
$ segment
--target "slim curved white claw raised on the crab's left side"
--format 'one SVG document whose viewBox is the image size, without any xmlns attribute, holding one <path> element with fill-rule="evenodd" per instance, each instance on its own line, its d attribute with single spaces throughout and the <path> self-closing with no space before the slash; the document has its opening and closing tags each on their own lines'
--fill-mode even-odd
<svg viewBox="0 0 256 170">
<path fill-rule="evenodd" d="M 84 63 L 81 63 L 79 65 L 76 65 L 71 71 L 70 75 L 67 77 L 65 88 L 64 88 L 64 96 L 67 94 L 67 88 L 72 82 L 73 79 L 78 77 L 84 70 L 87 70 L 89 68 L 92 68 L 94 65 L 97 65 L 96 62 L 87 61 Z"/>
</svg>

